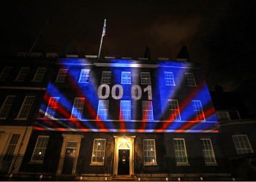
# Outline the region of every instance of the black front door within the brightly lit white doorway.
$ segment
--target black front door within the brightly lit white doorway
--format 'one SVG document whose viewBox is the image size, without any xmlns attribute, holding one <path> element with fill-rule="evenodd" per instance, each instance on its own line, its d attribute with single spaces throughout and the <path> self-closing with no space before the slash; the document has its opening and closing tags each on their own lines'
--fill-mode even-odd
<svg viewBox="0 0 256 182">
<path fill-rule="evenodd" d="M 129 149 L 118 150 L 118 175 L 129 175 Z"/>
</svg>

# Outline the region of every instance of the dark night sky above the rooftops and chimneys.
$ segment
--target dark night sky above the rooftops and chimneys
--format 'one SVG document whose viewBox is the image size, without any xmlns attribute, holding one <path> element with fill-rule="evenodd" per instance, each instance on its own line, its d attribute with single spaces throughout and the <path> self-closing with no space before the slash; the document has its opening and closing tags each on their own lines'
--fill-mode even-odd
<svg viewBox="0 0 256 182">
<path fill-rule="evenodd" d="M 175 60 L 184 44 L 201 63 L 211 90 L 218 83 L 256 102 L 255 1 L 1 1 L 1 56 L 29 52 Z M 45 22 L 48 21 L 47 24 Z M 254 100 L 254 101 L 253 101 Z"/>
</svg>

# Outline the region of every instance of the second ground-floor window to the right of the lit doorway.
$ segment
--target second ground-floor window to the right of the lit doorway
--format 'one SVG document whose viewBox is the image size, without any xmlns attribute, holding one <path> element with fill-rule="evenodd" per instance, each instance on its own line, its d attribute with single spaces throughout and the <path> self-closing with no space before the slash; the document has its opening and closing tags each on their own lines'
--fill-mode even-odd
<svg viewBox="0 0 256 182">
<path fill-rule="evenodd" d="M 184 138 L 174 138 L 173 144 L 176 157 L 176 165 L 189 165 L 189 162 L 187 161 L 187 150 Z"/>
</svg>

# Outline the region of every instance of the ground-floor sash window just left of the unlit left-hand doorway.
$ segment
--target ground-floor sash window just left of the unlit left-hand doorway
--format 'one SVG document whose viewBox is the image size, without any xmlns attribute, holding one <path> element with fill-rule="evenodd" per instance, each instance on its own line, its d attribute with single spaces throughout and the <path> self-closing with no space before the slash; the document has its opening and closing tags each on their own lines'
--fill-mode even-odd
<svg viewBox="0 0 256 182">
<path fill-rule="evenodd" d="M 42 164 L 45 157 L 46 146 L 49 141 L 49 136 L 38 136 L 34 152 L 31 157 L 31 162 Z"/>
</svg>

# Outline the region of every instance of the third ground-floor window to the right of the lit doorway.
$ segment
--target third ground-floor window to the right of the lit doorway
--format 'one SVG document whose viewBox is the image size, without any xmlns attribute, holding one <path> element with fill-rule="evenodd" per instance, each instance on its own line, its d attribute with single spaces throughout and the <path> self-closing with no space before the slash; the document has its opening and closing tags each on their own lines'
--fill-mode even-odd
<svg viewBox="0 0 256 182">
<path fill-rule="evenodd" d="M 203 147 L 203 157 L 205 159 L 206 165 L 217 165 L 214 149 L 211 145 L 211 139 L 203 138 L 200 139 Z"/>
</svg>

